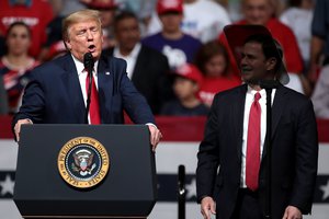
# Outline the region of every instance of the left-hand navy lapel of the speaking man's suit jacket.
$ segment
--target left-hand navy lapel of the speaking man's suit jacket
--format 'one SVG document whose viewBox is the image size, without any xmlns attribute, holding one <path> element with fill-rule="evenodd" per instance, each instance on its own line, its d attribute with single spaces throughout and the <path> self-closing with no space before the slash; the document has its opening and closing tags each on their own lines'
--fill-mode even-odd
<svg viewBox="0 0 329 219">
<path fill-rule="evenodd" d="M 72 107 L 77 120 L 79 123 L 83 123 L 86 106 L 83 103 L 83 96 L 77 73 L 77 68 L 70 54 L 66 55 L 64 62 L 65 72 L 61 77 L 63 83 L 65 84 L 65 88 L 67 88 L 67 94 L 69 96 L 69 100 L 72 101 Z"/>
</svg>

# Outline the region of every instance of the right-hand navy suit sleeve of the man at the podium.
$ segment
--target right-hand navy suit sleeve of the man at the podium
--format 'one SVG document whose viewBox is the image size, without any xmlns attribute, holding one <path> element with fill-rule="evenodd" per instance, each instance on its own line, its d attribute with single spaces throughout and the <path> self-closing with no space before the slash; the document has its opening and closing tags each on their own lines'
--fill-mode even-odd
<svg viewBox="0 0 329 219">
<path fill-rule="evenodd" d="M 135 124 L 155 124 L 155 118 L 146 99 L 137 91 L 126 73 L 126 62 L 122 62 L 118 77 L 120 92 L 123 96 L 124 110 Z"/>
</svg>

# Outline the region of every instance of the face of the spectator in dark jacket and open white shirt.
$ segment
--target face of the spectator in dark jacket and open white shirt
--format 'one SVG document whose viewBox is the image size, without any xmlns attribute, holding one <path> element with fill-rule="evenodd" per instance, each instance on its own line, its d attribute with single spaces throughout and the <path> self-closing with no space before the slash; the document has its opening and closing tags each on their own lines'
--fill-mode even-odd
<svg viewBox="0 0 329 219">
<path fill-rule="evenodd" d="M 128 18 L 116 23 L 115 36 L 120 47 L 132 50 L 140 39 L 139 25 L 136 19 Z"/>
</svg>

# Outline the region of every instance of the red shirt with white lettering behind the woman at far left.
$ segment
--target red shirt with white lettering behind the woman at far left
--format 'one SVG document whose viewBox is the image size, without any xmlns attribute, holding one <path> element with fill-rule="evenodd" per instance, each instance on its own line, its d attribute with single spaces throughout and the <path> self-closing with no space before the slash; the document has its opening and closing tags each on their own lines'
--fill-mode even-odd
<svg viewBox="0 0 329 219">
<path fill-rule="evenodd" d="M 33 0 L 31 5 L 10 5 L 8 0 L 0 1 L 0 33 L 5 34 L 10 24 L 23 21 L 31 27 L 32 45 L 30 54 L 37 57 L 47 39 L 46 27 L 54 19 L 47 0 Z"/>
</svg>

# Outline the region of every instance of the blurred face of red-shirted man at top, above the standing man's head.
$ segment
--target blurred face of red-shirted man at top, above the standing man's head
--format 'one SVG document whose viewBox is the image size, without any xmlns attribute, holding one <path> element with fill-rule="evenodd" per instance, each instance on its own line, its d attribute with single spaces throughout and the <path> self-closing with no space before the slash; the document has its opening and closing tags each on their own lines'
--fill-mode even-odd
<svg viewBox="0 0 329 219">
<path fill-rule="evenodd" d="M 248 24 L 265 25 L 273 14 L 270 0 L 245 0 L 242 11 Z"/>
</svg>

